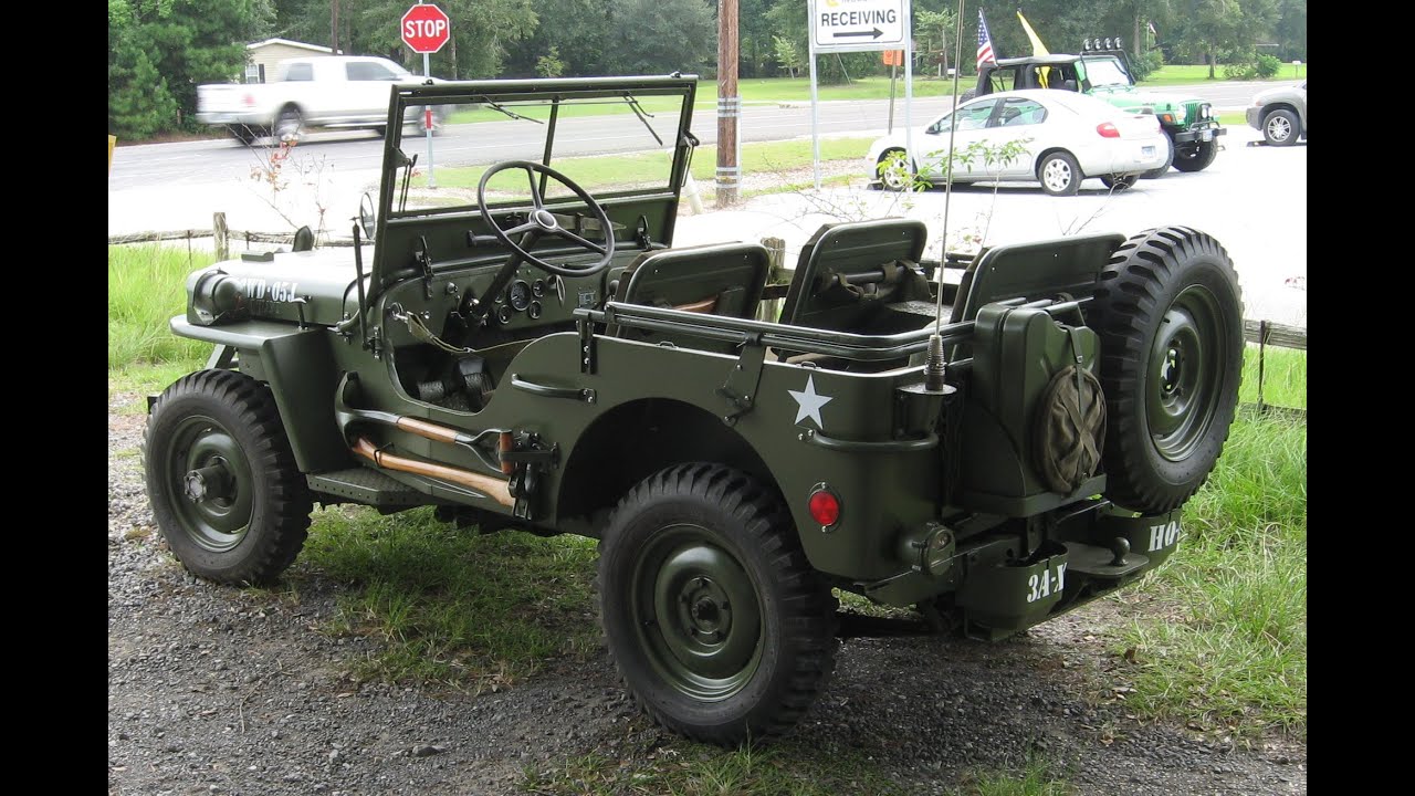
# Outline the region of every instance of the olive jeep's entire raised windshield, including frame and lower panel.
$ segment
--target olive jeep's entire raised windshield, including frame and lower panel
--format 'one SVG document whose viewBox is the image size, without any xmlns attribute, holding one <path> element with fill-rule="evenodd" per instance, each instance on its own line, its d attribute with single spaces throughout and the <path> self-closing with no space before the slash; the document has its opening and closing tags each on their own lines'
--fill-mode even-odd
<svg viewBox="0 0 1415 796">
<path fill-rule="evenodd" d="M 492 225 L 524 222 L 536 203 L 591 241 L 614 235 L 624 256 L 669 245 L 698 144 L 696 88 L 696 75 L 392 86 L 369 297 L 410 273 L 505 261 L 512 252 L 491 239 Z M 432 136 L 434 184 L 427 136 L 412 123 L 427 110 L 456 122 Z M 511 163 L 522 166 L 495 169 Z M 541 167 L 576 183 L 613 231 L 600 229 L 593 208 Z"/>
</svg>

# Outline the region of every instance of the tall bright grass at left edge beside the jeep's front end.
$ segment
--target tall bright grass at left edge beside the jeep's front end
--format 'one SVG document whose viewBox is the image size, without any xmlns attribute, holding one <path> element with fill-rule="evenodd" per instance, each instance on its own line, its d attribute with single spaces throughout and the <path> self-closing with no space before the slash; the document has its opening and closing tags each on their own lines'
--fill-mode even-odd
<svg viewBox="0 0 1415 796">
<path fill-rule="evenodd" d="M 209 252 L 161 245 L 108 248 L 108 368 L 195 361 L 209 343 L 175 337 L 167 327 L 187 309 L 187 275 L 215 262 Z"/>
</svg>

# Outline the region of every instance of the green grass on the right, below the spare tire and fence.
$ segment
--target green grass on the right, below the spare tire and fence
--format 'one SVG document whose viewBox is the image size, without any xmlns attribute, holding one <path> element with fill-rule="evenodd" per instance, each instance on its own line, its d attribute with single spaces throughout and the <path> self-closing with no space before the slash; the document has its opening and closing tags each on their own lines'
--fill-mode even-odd
<svg viewBox="0 0 1415 796">
<path fill-rule="evenodd" d="M 1283 351 L 1268 370 L 1268 401 L 1305 408 L 1306 354 Z M 1146 586 L 1165 616 L 1124 632 L 1128 707 L 1201 729 L 1305 737 L 1306 422 L 1241 414 L 1183 524 L 1179 552 Z"/>
</svg>

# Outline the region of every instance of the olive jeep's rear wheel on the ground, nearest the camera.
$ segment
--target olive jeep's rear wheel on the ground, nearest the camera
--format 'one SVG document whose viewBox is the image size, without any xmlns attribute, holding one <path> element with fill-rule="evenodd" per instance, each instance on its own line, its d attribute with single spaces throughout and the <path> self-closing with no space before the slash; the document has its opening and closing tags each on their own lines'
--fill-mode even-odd
<svg viewBox="0 0 1415 796">
<path fill-rule="evenodd" d="M 679 465 L 640 483 L 600 545 L 600 622 L 638 705 L 689 738 L 787 732 L 835 666 L 835 599 L 751 477 Z"/>
</svg>

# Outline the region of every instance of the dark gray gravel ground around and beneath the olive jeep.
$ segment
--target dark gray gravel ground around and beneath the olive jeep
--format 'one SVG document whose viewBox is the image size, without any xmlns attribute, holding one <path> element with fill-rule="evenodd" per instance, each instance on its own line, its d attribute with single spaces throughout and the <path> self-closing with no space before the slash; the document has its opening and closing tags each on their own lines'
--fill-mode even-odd
<svg viewBox="0 0 1415 796">
<path fill-rule="evenodd" d="M 338 584 L 313 572 L 297 598 L 214 586 L 166 551 L 139 405 L 110 397 L 108 416 L 109 793 L 499 795 L 526 766 L 678 744 L 635 714 L 603 654 L 481 695 L 350 680 L 372 642 L 318 630 Z M 1104 642 L 1124 620 L 1102 601 L 1000 644 L 845 640 L 791 742 L 867 756 L 918 793 L 1029 749 L 1087 795 L 1306 793 L 1305 744 L 1235 746 L 1131 718 Z"/>
</svg>

